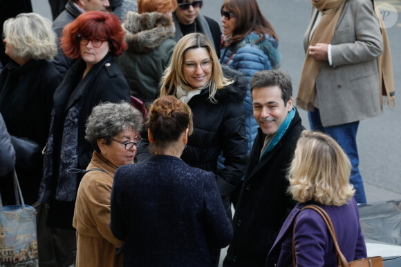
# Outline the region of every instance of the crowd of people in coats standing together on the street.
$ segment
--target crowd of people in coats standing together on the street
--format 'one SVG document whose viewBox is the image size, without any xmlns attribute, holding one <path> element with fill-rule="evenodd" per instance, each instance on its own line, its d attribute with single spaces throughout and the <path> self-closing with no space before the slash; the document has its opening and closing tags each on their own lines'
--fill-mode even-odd
<svg viewBox="0 0 401 267">
<path fill-rule="evenodd" d="M 1 198 L 15 168 L 39 266 L 337 266 L 309 204 L 366 257 L 355 138 L 394 97 L 373 1 L 311 1 L 296 101 L 256 0 L 225 0 L 220 25 L 203 0 L 49 2 L 53 24 L 1 18 Z"/>
</svg>

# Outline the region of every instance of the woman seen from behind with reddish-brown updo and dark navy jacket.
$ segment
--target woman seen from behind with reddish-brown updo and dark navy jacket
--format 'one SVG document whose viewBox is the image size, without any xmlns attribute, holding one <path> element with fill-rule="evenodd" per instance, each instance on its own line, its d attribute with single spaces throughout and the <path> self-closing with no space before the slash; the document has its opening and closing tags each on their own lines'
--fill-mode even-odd
<svg viewBox="0 0 401 267">
<path fill-rule="evenodd" d="M 214 174 L 180 160 L 191 109 L 160 97 L 147 127 L 151 156 L 118 168 L 111 191 L 110 227 L 124 241 L 124 266 L 217 266 L 232 226 Z"/>
</svg>

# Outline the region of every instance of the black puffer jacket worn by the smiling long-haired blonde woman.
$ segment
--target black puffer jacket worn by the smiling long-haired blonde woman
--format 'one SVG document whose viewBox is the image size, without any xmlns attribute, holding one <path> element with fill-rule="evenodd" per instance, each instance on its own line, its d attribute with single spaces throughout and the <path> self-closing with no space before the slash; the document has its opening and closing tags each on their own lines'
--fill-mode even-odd
<svg viewBox="0 0 401 267">
<path fill-rule="evenodd" d="M 230 68 L 223 67 L 223 75 L 234 79 L 234 83 L 216 92 L 217 103 L 209 100 L 208 88 L 189 100 L 188 106 L 194 114 L 194 132 L 188 138 L 181 159 L 189 166 L 215 173 L 218 190 L 230 215 L 228 195 L 239 184 L 247 163 L 243 99 L 248 80 L 241 72 Z M 217 159 L 221 152 L 225 168 L 218 170 Z M 138 161 L 147 156 L 146 145 L 138 148 Z"/>
</svg>

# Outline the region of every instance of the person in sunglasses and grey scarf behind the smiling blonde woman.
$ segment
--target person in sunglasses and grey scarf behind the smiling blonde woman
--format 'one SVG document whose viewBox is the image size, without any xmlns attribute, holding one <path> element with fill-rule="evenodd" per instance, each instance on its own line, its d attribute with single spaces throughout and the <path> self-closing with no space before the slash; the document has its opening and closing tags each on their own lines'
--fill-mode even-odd
<svg viewBox="0 0 401 267">
<path fill-rule="evenodd" d="M 176 34 L 174 40 L 179 41 L 183 36 L 191 32 L 202 32 L 213 42 L 217 57 L 220 57 L 221 30 L 214 19 L 199 14 L 203 6 L 202 0 L 174 0 L 178 2 L 178 8 L 173 14 Z"/>
</svg>

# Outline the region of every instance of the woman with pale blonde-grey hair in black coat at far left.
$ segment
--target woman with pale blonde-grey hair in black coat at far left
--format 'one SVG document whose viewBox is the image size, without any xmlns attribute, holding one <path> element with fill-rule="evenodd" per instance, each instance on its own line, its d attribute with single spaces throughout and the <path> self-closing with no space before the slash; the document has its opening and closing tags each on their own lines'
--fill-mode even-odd
<svg viewBox="0 0 401 267">
<path fill-rule="evenodd" d="M 21 13 L 8 19 L 3 32 L 5 52 L 11 60 L 0 77 L 1 115 L 10 135 L 26 137 L 43 149 L 50 128 L 53 93 L 62 81 L 62 76 L 49 61 L 57 53 L 55 32 L 50 21 L 35 13 Z M 27 204 L 37 200 L 43 172 L 41 162 L 38 156 L 37 164 L 32 168 L 22 166 L 18 161 L 15 166 Z M 0 181 L 3 201 L 14 203 L 14 195 L 8 190 L 12 186 L 3 184 L 11 183 L 12 179 Z"/>
</svg>

